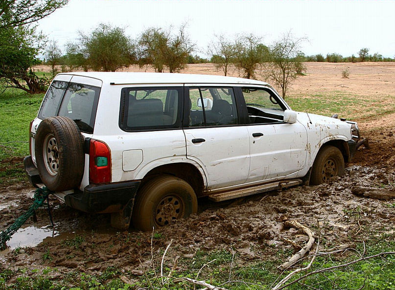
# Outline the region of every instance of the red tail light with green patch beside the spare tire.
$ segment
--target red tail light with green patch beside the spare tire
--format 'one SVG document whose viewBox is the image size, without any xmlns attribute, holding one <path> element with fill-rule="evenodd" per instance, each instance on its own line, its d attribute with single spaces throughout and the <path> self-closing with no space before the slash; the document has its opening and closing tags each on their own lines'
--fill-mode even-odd
<svg viewBox="0 0 395 290">
<path fill-rule="evenodd" d="M 91 139 L 89 145 L 90 183 L 111 182 L 111 152 L 107 144 Z"/>
</svg>

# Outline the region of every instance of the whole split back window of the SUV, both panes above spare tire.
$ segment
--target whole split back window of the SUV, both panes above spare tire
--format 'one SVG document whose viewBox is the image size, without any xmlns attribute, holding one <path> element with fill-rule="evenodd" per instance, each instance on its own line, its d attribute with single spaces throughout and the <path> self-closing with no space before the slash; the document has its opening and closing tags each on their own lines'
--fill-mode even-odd
<svg viewBox="0 0 395 290">
<path fill-rule="evenodd" d="M 65 116 L 74 120 L 79 129 L 93 133 L 100 88 L 54 81 L 48 89 L 38 117 Z"/>
</svg>

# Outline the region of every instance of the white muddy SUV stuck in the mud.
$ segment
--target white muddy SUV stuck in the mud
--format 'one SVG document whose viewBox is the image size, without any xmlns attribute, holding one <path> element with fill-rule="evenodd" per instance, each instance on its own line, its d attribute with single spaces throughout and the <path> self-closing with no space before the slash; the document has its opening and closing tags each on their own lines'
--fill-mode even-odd
<svg viewBox="0 0 395 290">
<path fill-rule="evenodd" d="M 25 171 L 69 206 L 150 230 L 224 201 L 342 175 L 357 124 L 294 112 L 268 84 L 130 72 L 58 74 Z"/>
</svg>

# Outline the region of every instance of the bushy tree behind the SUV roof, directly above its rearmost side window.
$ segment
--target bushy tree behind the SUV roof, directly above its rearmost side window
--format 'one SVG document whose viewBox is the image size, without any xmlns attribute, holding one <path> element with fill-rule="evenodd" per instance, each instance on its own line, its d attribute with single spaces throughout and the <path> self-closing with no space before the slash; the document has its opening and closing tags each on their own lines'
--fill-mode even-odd
<svg viewBox="0 0 395 290">
<path fill-rule="evenodd" d="M 179 72 L 188 63 L 188 57 L 194 49 L 194 44 L 186 34 L 183 24 L 177 33 L 151 27 L 139 37 L 139 65 L 151 65 L 155 71 L 163 72 L 167 67 L 169 72 Z"/>
</svg>

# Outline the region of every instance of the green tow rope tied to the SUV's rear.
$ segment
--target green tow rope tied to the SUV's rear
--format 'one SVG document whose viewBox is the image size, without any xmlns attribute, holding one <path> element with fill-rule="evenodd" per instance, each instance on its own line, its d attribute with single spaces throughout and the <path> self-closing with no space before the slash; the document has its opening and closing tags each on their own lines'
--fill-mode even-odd
<svg viewBox="0 0 395 290">
<path fill-rule="evenodd" d="M 3 250 L 6 248 L 5 243 L 11 239 L 11 236 L 17 232 L 17 230 L 27 221 L 27 219 L 31 216 L 35 216 L 36 209 L 43 206 L 44 201 L 48 200 L 48 195 L 51 194 L 52 191 L 47 189 L 46 187 L 37 188 L 34 193 L 34 202 L 29 207 L 29 209 L 20 216 L 13 224 L 11 224 L 6 230 L 3 230 L 0 233 L 0 249 Z M 49 204 L 48 204 L 48 213 L 52 223 L 52 217 L 50 216 Z M 52 223 L 53 225 L 53 223 Z"/>
</svg>

